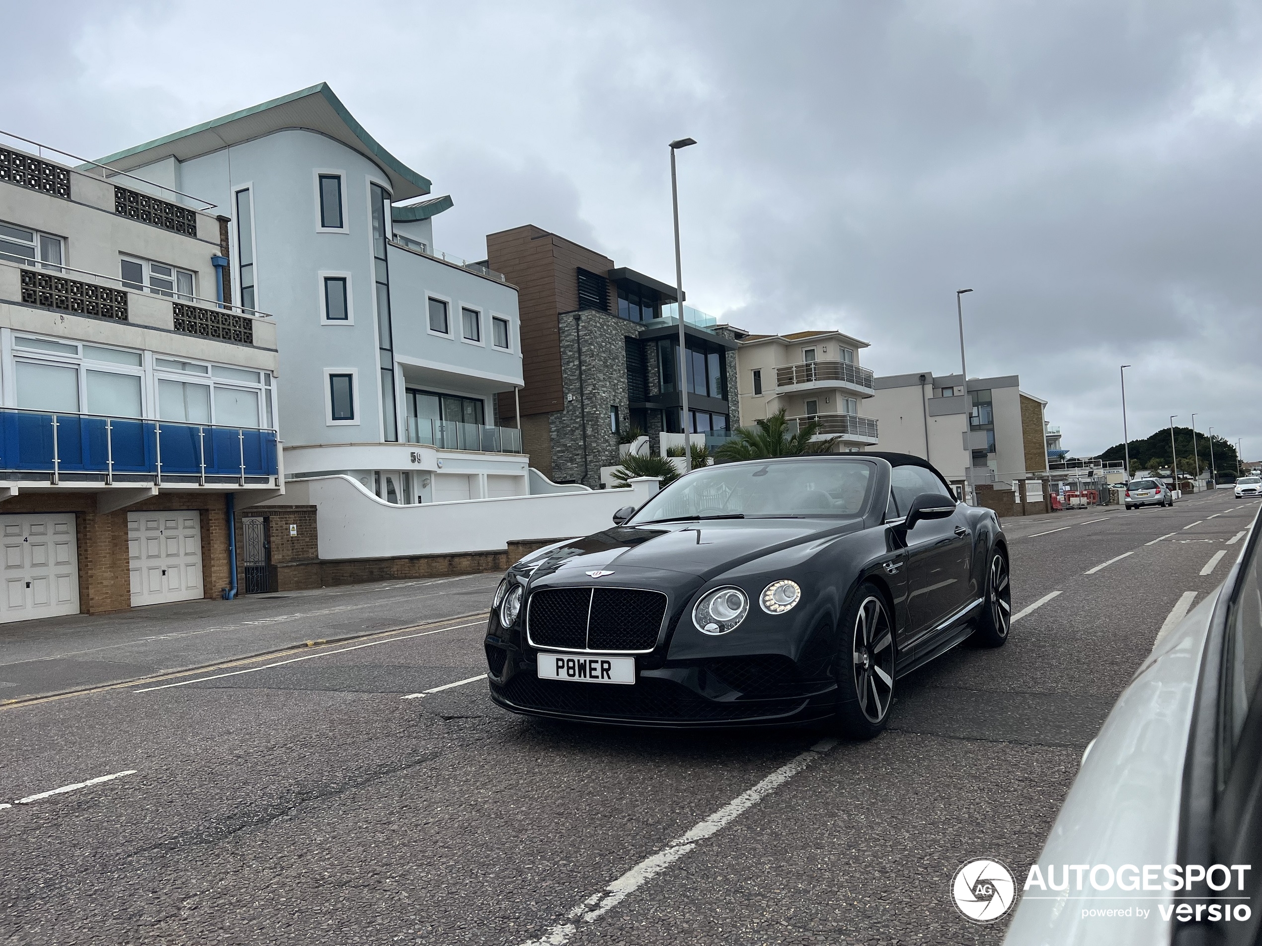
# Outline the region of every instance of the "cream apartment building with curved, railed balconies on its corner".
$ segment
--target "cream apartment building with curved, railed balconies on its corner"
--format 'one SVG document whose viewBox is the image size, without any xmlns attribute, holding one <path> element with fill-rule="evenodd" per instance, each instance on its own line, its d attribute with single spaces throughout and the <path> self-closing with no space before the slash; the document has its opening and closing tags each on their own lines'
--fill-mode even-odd
<svg viewBox="0 0 1262 946">
<path fill-rule="evenodd" d="M 876 445 L 877 421 L 863 410 L 875 390 L 872 372 L 859 367 L 867 347 L 835 330 L 738 337 L 742 423 L 784 410 L 790 420 L 819 421 L 817 439 L 837 436 L 840 450 Z"/>
</svg>

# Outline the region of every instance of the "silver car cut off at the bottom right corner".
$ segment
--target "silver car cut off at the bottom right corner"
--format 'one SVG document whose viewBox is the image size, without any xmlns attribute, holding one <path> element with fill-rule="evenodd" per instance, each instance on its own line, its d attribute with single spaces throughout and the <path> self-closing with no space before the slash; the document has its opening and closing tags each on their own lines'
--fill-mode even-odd
<svg viewBox="0 0 1262 946">
<path fill-rule="evenodd" d="M 1262 932 L 1262 535 L 1140 666 L 1082 767 L 1005 946 L 1253 946 Z M 1076 878 L 1076 879 L 1075 879 Z"/>
</svg>

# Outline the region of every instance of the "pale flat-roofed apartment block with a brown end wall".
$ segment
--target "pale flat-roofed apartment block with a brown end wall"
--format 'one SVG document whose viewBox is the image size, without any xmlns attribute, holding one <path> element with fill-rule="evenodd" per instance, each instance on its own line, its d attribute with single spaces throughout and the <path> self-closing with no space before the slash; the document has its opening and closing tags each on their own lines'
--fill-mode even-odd
<svg viewBox="0 0 1262 946">
<path fill-rule="evenodd" d="M 1046 401 L 1017 375 L 969 378 L 916 372 L 873 378 L 868 412 L 881 448 L 924 457 L 952 482 L 993 482 L 1047 469 Z M 1010 476 L 1011 474 L 1011 476 Z"/>
</svg>

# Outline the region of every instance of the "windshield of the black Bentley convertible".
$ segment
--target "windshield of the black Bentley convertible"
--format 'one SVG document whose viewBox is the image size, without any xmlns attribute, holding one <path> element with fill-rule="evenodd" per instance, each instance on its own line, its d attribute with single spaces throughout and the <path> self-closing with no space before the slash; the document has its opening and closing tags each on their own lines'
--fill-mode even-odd
<svg viewBox="0 0 1262 946">
<path fill-rule="evenodd" d="M 632 525 L 708 517 L 857 516 L 871 489 L 863 460 L 775 460 L 707 467 L 658 493 Z"/>
</svg>

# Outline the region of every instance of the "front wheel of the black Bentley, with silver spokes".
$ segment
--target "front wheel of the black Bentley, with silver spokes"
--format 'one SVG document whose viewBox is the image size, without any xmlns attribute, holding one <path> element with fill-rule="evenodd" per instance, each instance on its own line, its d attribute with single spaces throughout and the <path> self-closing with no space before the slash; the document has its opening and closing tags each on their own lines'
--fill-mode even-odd
<svg viewBox="0 0 1262 946">
<path fill-rule="evenodd" d="M 897 650 L 893 617 L 876 585 L 859 585 L 838 637 L 837 728 L 849 739 L 871 739 L 890 719 Z"/>
</svg>

